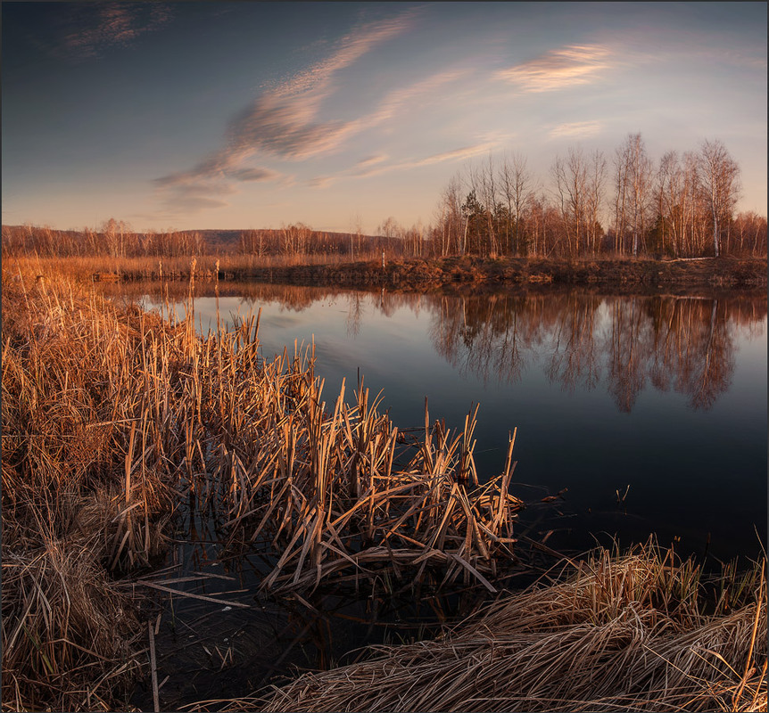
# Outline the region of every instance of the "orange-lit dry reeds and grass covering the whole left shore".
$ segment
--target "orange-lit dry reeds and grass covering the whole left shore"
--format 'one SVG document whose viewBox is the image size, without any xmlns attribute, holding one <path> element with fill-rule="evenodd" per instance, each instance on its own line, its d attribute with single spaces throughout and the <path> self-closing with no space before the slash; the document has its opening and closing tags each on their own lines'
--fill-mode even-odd
<svg viewBox="0 0 769 713">
<path fill-rule="evenodd" d="M 477 407 L 456 431 L 426 406 L 405 433 L 362 381 L 327 407 L 312 345 L 264 360 L 258 316 L 200 338 L 190 275 L 176 322 L 4 272 L 4 709 L 114 703 L 145 659 L 112 587 L 161 561 L 183 506 L 256 548 L 275 594 L 427 575 L 496 591 L 516 562 L 514 436 L 481 482 Z"/>
</svg>

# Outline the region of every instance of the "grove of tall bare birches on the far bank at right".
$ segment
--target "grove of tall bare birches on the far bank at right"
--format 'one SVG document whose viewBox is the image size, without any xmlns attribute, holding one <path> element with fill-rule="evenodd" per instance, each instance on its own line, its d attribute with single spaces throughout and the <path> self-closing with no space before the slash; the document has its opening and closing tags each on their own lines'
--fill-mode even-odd
<svg viewBox="0 0 769 713">
<path fill-rule="evenodd" d="M 436 209 L 441 255 L 717 257 L 766 254 L 766 218 L 745 211 L 740 167 L 724 143 L 666 152 L 641 134 L 607 157 L 572 147 L 545 181 L 515 153 L 451 178 Z"/>
</svg>

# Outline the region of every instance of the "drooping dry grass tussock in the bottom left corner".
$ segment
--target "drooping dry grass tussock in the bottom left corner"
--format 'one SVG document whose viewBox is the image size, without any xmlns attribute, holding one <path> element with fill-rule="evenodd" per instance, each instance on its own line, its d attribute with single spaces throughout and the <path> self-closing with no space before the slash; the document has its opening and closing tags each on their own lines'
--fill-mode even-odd
<svg viewBox="0 0 769 713">
<path fill-rule="evenodd" d="M 112 710 L 141 668 L 142 634 L 87 544 L 3 553 L 4 710 Z"/>
</svg>

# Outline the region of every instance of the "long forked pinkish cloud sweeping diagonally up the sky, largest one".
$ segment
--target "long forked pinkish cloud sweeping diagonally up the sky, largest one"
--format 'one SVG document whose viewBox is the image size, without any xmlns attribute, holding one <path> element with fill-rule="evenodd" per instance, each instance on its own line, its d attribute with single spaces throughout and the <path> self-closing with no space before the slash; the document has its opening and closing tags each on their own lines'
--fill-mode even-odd
<svg viewBox="0 0 769 713">
<path fill-rule="evenodd" d="M 307 159 L 338 148 L 345 138 L 363 127 L 386 119 L 392 114 L 392 107 L 380 109 L 375 117 L 347 122 L 318 121 L 318 112 L 321 104 L 335 92 L 334 79 L 338 71 L 351 66 L 376 45 L 400 35 L 417 14 L 417 10 L 409 9 L 390 20 L 353 30 L 339 41 L 339 49 L 326 60 L 264 92 L 231 119 L 224 148 L 189 170 L 155 179 L 158 189 L 188 187 L 212 177 L 274 180 L 279 174 L 264 168 L 244 169 L 241 165 L 255 153 L 288 160 Z M 397 104 L 397 98 L 393 102 Z"/>
</svg>

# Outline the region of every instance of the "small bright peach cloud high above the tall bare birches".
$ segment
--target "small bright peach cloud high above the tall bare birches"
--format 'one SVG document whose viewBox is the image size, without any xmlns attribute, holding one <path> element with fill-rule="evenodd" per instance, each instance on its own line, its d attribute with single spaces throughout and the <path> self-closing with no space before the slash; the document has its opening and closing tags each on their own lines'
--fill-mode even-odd
<svg viewBox="0 0 769 713">
<path fill-rule="evenodd" d="M 500 70 L 496 76 L 517 84 L 525 92 L 551 92 L 596 81 L 601 70 L 611 67 L 611 54 L 605 45 L 568 45 Z"/>
</svg>

